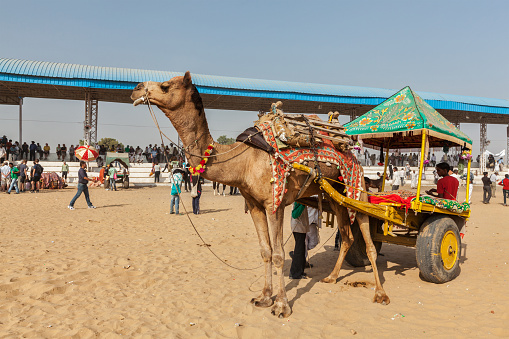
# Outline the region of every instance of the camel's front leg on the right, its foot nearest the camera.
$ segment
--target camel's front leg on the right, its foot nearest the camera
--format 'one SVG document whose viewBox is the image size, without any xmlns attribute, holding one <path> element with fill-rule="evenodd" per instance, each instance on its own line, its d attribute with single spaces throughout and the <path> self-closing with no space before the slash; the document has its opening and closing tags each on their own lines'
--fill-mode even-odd
<svg viewBox="0 0 509 339">
<path fill-rule="evenodd" d="M 269 215 L 269 229 L 272 233 L 273 241 L 273 254 L 272 261 L 276 266 L 276 272 L 279 276 L 279 290 L 276 296 L 274 306 L 272 306 L 272 314 L 279 318 L 286 318 L 292 314 L 292 309 L 288 304 L 286 296 L 285 277 L 283 275 L 283 265 L 285 263 L 285 251 L 283 249 L 283 217 L 284 217 L 283 204 L 277 209 L 276 213 L 272 214 L 270 211 L 266 213 Z"/>
</svg>

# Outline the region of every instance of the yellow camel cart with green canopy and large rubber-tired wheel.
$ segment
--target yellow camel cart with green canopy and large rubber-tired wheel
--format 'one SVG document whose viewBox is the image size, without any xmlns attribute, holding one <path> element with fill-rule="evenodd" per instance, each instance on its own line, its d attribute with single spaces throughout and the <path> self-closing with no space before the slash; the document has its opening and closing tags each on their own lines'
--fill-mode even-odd
<svg viewBox="0 0 509 339">
<path fill-rule="evenodd" d="M 353 138 L 361 139 L 365 145 L 380 150 L 381 154 L 385 150 L 384 183 L 389 149 L 420 148 L 419 182 L 415 197 L 394 199 L 396 192 L 388 195 L 387 199 L 377 195 L 376 199 L 370 197 L 370 202 L 364 202 L 338 192 L 327 178 L 316 177 L 315 181 L 342 206 L 370 217 L 371 237 L 378 251 L 384 242 L 415 247 L 417 266 L 424 280 L 445 283 L 457 277 L 460 273 L 460 231 L 470 217 L 470 206 L 468 203 L 423 196 L 421 174 L 429 147 L 444 147 L 444 150 L 461 147 L 462 154 L 468 159 L 467 182 L 470 182 L 471 139 L 409 87 L 346 124 L 345 131 Z M 294 163 L 293 167 L 313 173 L 310 167 L 302 164 Z M 467 197 L 468 190 L 469 185 Z M 373 203 L 372 200 L 377 202 Z M 318 205 L 312 198 L 300 199 L 299 202 L 312 207 Z M 332 210 L 325 202 L 322 208 L 332 215 Z M 346 260 L 353 266 L 369 265 L 366 244 L 356 222 L 352 225 L 352 233 L 354 242 Z"/>
</svg>

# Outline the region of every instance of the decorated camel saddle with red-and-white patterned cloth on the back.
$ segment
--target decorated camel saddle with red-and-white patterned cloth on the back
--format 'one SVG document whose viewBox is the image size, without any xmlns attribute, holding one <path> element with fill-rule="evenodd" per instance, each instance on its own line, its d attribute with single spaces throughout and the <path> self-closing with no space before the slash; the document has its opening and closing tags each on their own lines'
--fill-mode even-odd
<svg viewBox="0 0 509 339">
<path fill-rule="evenodd" d="M 358 200 L 363 171 L 350 151 L 353 145 L 351 138 L 337 120 L 339 113 L 330 112 L 329 121 L 324 122 L 316 115 L 285 114 L 281 107 L 280 101 L 273 103 L 269 113 L 259 115 L 255 127 L 237 138 L 237 141 L 246 142 L 271 155 L 273 212 L 286 193 L 286 177 L 290 175 L 292 163 L 307 165 L 315 159 L 326 166 L 337 166 L 341 171 L 339 179 L 346 184 L 347 196 Z M 353 220 L 355 212 L 349 212 Z"/>
</svg>

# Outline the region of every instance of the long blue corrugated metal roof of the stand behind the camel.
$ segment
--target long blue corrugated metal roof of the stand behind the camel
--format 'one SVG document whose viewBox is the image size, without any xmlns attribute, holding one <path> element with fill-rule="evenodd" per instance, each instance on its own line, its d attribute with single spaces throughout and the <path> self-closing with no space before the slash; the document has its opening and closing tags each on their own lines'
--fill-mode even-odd
<svg viewBox="0 0 509 339">
<path fill-rule="evenodd" d="M 182 72 L 29 61 L 0 58 L 0 81 L 132 89 L 143 81 L 166 81 Z M 369 87 L 244 79 L 193 74 L 193 83 L 204 94 L 277 98 L 360 105 L 378 105 L 396 90 Z M 509 114 L 509 101 L 462 95 L 417 92 L 435 109 Z"/>
</svg>

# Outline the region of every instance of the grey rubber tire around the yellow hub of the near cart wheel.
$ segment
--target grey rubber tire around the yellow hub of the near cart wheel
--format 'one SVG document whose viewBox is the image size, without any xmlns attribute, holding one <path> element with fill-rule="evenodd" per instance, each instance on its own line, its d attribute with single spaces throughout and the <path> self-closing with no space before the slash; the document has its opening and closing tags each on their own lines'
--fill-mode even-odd
<svg viewBox="0 0 509 339">
<path fill-rule="evenodd" d="M 444 268 L 440 249 L 444 235 L 452 231 L 458 240 L 458 258 L 454 266 Z M 459 259 L 461 253 L 461 237 L 454 220 L 445 215 L 433 215 L 423 223 L 419 235 L 415 256 L 421 278 L 435 284 L 443 284 L 453 280 L 460 274 Z"/>
</svg>

